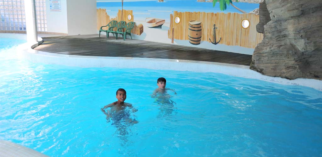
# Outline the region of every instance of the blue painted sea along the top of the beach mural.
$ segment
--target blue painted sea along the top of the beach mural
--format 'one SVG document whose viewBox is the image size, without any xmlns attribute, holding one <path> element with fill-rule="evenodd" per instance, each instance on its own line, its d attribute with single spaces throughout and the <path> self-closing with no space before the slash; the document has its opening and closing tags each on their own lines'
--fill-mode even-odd
<svg viewBox="0 0 322 157">
<path fill-rule="evenodd" d="M 256 8 L 259 8 L 259 4 L 252 3 L 233 3 L 236 7 L 249 13 Z M 97 1 L 97 8 L 106 9 L 107 14 L 111 18 L 115 18 L 118 10 L 122 9 L 121 1 Z M 206 13 L 240 13 L 232 5 L 227 5 L 225 11 L 221 11 L 219 3 L 213 7 L 213 3 L 209 2 L 197 2 L 197 0 L 165 0 L 164 2 L 155 1 L 123 1 L 124 10 L 133 10 L 134 21 L 144 21 L 147 17 L 165 19 L 166 22 L 170 22 L 170 14 L 173 11 L 178 12 L 206 12 Z"/>
</svg>

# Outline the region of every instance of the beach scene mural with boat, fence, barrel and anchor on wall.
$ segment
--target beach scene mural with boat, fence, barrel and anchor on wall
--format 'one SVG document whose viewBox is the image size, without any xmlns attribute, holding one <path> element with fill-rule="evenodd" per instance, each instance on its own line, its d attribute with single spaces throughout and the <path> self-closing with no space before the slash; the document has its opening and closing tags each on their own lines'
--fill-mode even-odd
<svg viewBox="0 0 322 157">
<path fill-rule="evenodd" d="M 97 27 L 111 20 L 135 22 L 133 39 L 252 54 L 263 38 L 256 31 L 258 0 L 202 1 L 97 0 Z"/>
</svg>

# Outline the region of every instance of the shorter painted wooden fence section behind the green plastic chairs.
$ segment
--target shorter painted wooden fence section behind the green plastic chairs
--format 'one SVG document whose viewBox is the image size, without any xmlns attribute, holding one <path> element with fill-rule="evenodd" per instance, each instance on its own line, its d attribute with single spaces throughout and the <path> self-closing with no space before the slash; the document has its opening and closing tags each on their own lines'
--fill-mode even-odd
<svg viewBox="0 0 322 157">
<path fill-rule="evenodd" d="M 97 30 L 101 26 L 107 25 L 110 21 L 116 20 L 116 21 L 125 21 L 126 23 L 128 22 L 134 22 L 134 16 L 133 16 L 133 11 L 132 10 L 123 10 L 123 16 L 122 16 L 122 10 L 118 10 L 118 14 L 115 18 L 110 18 L 109 15 L 106 13 L 106 9 L 97 9 Z M 132 16 L 131 20 L 128 20 L 128 14 Z M 123 18 L 122 18 L 123 17 Z M 104 29 L 104 28 L 103 28 Z M 116 28 L 114 28 L 116 30 Z M 143 25 L 134 25 L 134 28 L 132 29 L 131 33 L 141 35 L 143 32 Z"/>
</svg>

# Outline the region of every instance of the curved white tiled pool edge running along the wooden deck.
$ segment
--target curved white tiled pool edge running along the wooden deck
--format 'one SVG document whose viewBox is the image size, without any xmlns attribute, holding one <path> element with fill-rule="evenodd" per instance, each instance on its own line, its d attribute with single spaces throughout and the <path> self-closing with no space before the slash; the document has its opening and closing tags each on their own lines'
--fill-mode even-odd
<svg viewBox="0 0 322 157">
<path fill-rule="evenodd" d="M 253 71 L 249 69 L 249 66 L 244 65 L 194 60 L 66 55 L 33 50 L 28 43 L 22 44 L 19 47 L 21 52 L 27 52 L 21 53 L 21 56 L 37 63 L 84 68 L 111 67 L 213 72 L 242 78 L 253 78 L 282 85 L 306 86 L 322 91 L 322 80 L 308 78 L 289 80 L 286 78 L 270 77 Z"/>
</svg>

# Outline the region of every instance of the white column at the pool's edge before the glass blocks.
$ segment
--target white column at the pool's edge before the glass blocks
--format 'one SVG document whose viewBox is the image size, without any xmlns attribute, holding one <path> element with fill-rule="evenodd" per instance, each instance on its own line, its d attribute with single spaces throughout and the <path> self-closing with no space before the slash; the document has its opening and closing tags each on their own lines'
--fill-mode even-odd
<svg viewBox="0 0 322 157">
<path fill-rule="evenodd" d="M 33 45 L 33 47 L 36 47 L 38 46 L 38 37 L 35 0 L 24 0 L 24 12 L 26 17 L 27 42 Z"/>
</svg>

